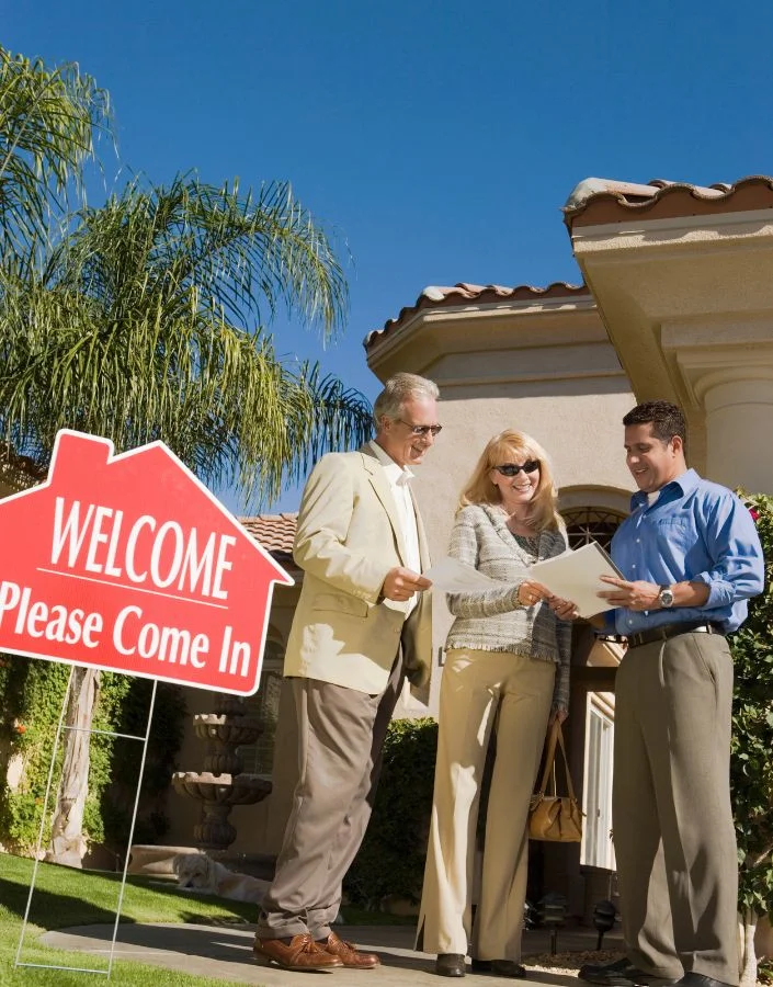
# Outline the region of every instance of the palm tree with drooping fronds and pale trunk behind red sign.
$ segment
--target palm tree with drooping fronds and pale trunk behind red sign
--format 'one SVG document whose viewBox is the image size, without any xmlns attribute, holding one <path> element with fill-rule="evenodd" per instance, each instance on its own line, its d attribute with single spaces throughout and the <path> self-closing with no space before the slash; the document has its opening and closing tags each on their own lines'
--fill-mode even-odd
<svg viewBox="0 0 773 987">
<path fill-rule="evenodd" d="M 29 91 L 24 91 L 25 86 Z M 57 103 L 56 100 L 59 102 Z M 328 449 L 370 433 L 370 407 L 317 365 L 277 359 L 264 324 L 284 306 L 323 338 L 348 290 L 325 234 L 286 183 L 257 195 L 195 174 L 135 180 L 100 208 L 79 190 L 106 95 L 75 67 L 0 48 L 0 430 L 48 462 L 62 428 L 118 451 L 162 439 L 245 502 L 275 496 Z M 49 859 L 80 865 L 99 673 L 75 670 Z"/>
</svg>

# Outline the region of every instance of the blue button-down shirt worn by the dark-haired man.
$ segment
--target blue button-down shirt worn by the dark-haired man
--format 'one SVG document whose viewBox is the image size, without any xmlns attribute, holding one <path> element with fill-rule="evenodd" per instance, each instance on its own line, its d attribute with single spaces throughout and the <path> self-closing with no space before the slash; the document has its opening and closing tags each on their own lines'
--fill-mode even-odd
<svg viewBox="0 0 773 987">
<path fill-rule="evenodd" d="M 639 491 L 632 513 L 612 540 L 612 558 L 624 577 L 658 585 L 705 582 L 703 606 L 650 611 L 618 608 L 609 616 L 617 634 L 635 634 L 683 621 L 716 622 L 726 633 L 747 616 L 747 599 L 764 585 L 762 546 L 749 510 L 718 484 L 687 469 L 650 504 Z"/>
</svg>

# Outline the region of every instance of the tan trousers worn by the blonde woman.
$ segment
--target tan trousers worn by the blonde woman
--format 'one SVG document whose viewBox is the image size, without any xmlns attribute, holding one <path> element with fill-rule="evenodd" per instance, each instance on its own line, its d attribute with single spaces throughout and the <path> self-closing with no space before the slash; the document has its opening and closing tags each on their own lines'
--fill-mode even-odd
<svg viewBox="0 0 773 987">
<path fill-rule="evenodd" d="M 556 667 L 508 651 L 450 650 L 419 943 L 430 953 L 521 958 L 526 898 L 526 817 L 539 767 Z M 497 721 L 480 900 L 470 930 L 480 781 Z M 471 932 L 471 937 L 470 937 Z"/>
</svg>

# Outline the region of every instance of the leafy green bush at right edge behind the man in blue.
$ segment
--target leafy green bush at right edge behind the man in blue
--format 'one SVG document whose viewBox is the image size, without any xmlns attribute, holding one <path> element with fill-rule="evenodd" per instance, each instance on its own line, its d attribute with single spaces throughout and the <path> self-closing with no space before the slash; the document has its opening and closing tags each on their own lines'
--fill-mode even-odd
<svg viewBox="0 0 773 987">
<path fill-rule="evenodd" d="M 765 589 L 730 639 L 735 665 L 730 785 L 740 863 L 739 907 L 773 908 L 773 498 L 744 496 L 765 554 Z"/>
</svg>

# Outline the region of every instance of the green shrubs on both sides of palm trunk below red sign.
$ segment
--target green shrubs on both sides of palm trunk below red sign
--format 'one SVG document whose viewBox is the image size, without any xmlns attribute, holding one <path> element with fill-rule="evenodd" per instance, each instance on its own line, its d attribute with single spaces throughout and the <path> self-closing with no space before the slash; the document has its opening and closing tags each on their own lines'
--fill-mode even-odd
<svg viewBox="0 0 773 987">
<path fill-rule="evenodd" d="M 19 656 L 0 656 L 0 842 L 30 852 L 37 841 L 46 779 L 70 669 Z M 93 728 L 133 736 L 145 734 L 152 683 L 102 672 Z M 163 836 L 163 803 L 183 733 L 185 703 L 175 685 L 160 683 L 145 765 L 135 842 Z M 104 734 L 91 738 L 89 796 L 84 830 L 90 842 L 126 852 L 143 745 Z M 21 759 L 21 764 L 20 764 Z M 5 775 L 22 768 L 12 790 Z M 57 768 L 61 767 L 61 748 Z M 59 772 L 54 775 L 54 793 Z M 49 802 L 49 810 L 52 802 Z"/>
</svg>

